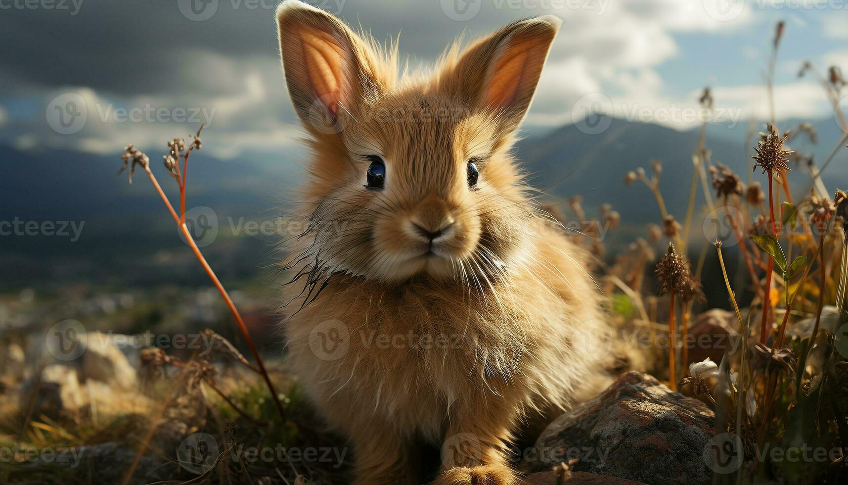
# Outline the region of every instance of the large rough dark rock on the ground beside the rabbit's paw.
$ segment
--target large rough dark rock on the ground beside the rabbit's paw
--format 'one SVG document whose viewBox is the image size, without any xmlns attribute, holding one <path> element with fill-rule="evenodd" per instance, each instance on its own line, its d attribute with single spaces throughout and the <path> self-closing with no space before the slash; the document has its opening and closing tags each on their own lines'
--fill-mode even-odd
<svg viewBox="0 0 848 485">
<path fill-rule="evenodd" d="M 550 471 L 577 459 L 572 471 L 636 482 L 710 483 L 703 458 L 714 414 L 653 377 L 628 372 L 598 397 L 561 415 L 538 437 L 522 467 Z"/>
</svg>

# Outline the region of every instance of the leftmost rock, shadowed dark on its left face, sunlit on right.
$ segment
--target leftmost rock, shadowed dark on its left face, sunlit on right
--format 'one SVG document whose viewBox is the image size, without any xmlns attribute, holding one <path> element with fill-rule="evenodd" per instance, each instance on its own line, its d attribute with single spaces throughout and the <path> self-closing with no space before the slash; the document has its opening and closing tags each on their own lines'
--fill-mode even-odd
<svg viewBox="0 0 848 485">
<path fill-rule="evenodd" d="M 50 364 L 38 377 L 26 381 L 20 388 L 20 409 L 33 415 L 58 417 L 80 409 L 86 403 L 76 369 L 64 364 Z"/>
</svg>

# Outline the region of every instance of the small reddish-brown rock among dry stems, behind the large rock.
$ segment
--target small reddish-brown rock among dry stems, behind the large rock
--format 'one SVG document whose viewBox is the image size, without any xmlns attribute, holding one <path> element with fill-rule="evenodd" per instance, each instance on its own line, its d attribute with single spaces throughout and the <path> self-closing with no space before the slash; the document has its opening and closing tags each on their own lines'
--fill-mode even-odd
<svg viewBox="0 0 848 485">
<path fill-rule="evenodd" d="M 706 358 L 721 362 L 725 352 L 734 350 L 738 328 L 736 313 L 721 308 L 707 310 L 695 317 L 695 321 L 689 325 L 689 335 L 683 340 L 683 345 L 689 347 L 689 362 L 684 362 L 683 367 Z"/>
</svg>

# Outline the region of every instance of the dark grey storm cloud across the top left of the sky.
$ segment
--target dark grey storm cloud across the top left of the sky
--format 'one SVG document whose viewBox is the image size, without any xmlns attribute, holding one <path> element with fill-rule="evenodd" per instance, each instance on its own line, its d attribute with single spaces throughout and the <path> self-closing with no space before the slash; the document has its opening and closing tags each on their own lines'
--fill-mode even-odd
<svg viewBox="0 0 848 485">
<path fill-rule="evenodd" d="M 276 59 L 275 0 L 0 0 L 0 65 L 7 93 L 44 87 L 93 87 L 114 95 L 233 93 L 234 66 L 226 59 Z M 64 2 L 70 9 L 43 8 Z M 215 7 L 208 20 L 181 13 L 189 2 L 198 11 Z M 469 22 L 450 20 L 439 0 L 311 0 L 360 23 L 385 40 L 402 31 L 401 52 L 410 61 L 429 61 L 463 31 L 477 34 L 527 16 L 483 2 Z M 19 7 L 22 8 L 19 8 Z M 27 6 L 36 6 L 29 8 Z M 414 21 L 411 21 L 414 20 Z M 223 75 L 221 70 L 225 70 Z"/>
</svg>

